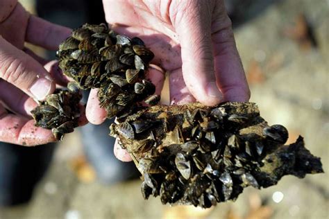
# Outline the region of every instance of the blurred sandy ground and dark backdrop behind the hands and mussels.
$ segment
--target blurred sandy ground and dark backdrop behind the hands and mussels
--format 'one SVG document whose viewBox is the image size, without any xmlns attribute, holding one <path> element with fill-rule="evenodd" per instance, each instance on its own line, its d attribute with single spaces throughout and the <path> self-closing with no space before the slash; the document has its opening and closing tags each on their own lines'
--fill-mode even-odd
<svg viewBox="0 0 329 219">
<path fill-rule="evenodd" d="M 33 14 L 71 28 L 104 19 L 101 1 L 20 2 Z M 143 200 L 133 165 L 110 157 L 112 139 L 101 146 L 83 138 L 84 132 L 97 134 L 90 125 L 68 134 L 58 146 L 44 146 L 49 168 L 36 177 L 41 181 L 34 190 L 37 179 L 31 183 L 33 193 L 26 200 L 0 207 L 0 218 L 329 218 L 329 1 L 231 0 L 226 7 L 251 101 L 269 124 L 287 127 L 289 143 L 299 134 L 305 137 L 326 173 L 286 176 L 276 186 L 248 188 L 236 202 L 207 210 L 164 206 L 158 198 Z M 31 48 L 54 58 L 53 52 Z M 102 158 L 107 153 L 110 160 Z"/>
</svg>

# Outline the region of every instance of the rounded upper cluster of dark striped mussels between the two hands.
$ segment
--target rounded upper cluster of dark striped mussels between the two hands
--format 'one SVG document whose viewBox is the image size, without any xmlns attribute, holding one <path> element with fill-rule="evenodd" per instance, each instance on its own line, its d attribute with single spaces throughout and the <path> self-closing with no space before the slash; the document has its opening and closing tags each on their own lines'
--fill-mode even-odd
<svg viewBox="0 0 329 219">
<path fill-rule="evenodd" d="M 59 66 L 81 89 L 99 88 L 108 118 L 126 116 L 144 100 L 155 105 L 160 96 L 145 80 L 153 53 L 138 38 L 117 35 L 106 24 L 84 24 L 60 44 Z"/>
</svg>

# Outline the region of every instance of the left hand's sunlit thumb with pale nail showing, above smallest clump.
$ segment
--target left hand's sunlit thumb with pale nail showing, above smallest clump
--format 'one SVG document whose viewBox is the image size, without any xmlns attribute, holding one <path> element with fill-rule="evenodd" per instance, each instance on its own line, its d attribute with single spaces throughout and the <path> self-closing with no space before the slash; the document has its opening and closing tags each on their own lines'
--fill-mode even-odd
<svg viewBox="0 0 329 219">
<path fill-rule="evenodd" d="M 1 36 L 0 48 L 0 78 L 37 100 L 43 100 L 53 92 L 55 83 L 37 61 Z"/>
</svg>

